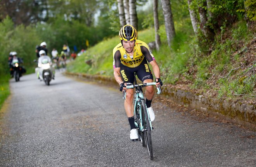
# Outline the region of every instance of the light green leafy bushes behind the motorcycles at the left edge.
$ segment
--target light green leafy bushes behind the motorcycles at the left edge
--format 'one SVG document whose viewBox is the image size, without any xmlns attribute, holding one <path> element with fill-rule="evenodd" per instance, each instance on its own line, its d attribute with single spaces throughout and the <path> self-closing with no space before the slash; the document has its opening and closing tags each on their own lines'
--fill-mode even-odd
<svg viewBox="0 0 256 167">
<path fill-rule="evenodd" d="M 14 26 L 10 17 L 0 22 L 0 74 L 9 73 L 8 56 L 16 51 L 17 56 L 24 60 L 26 67 L 33 66 L 35 59 L 35 43 L 40 39 L 32 26 Z"/>
</svg>

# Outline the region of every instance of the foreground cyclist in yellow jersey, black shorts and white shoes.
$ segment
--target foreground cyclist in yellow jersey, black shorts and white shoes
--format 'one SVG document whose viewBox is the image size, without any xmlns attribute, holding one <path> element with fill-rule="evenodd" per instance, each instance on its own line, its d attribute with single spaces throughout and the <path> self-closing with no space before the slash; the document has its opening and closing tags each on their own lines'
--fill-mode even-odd
<svg viewBox="0 0 256 167">
<path fill-rule="evenodd" d="M 163 85 L 160 79 L 160 68 L 152 53 L 149 51 L 149 46 L 137 39 L 137 31 L 131 25 L 125 25 L 119 31 L 119 43 L 113 49 L 113 68 L 116 82 L 120 85 L 120 91 L 126 90 L 125 112 L 130 124 L 130 139 L 138 139 L 138 129 L 134 123 L 133 115 L 133 89 L 126 89 L 127 85 L 132 85 L 134 82 L 134 72 L 138 78 L 144 82 L 153 82 L 153 75 L 149 69 L 149 64 L 152 66 L 154 75 L 156 76 L 156 84 Z M 146 106 L 149 111 L 150 120 L 154 121 L 155 114 L 151 107 L 151 102 L 154 96 L 154 87 L 145 87 Z"/>
</svg>

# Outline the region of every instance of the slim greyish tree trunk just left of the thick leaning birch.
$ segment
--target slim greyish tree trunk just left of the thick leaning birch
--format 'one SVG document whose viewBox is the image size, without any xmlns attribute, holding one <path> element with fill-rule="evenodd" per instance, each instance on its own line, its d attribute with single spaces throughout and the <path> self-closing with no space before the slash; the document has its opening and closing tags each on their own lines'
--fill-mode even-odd
<svg viewBox="0 0 256 167">
<path fill-rule="evenodd" d="M 154 0 L 153 2 L 153 11 L 154 11 L 154 27 L 155 27 L 155 40 L 156 40 L 156 50 L 158 51 L 161 45 L 160 36 L 158 34 L 159 32 L 159 21 L 158 21 L 158 0 Z"/>
</svg>

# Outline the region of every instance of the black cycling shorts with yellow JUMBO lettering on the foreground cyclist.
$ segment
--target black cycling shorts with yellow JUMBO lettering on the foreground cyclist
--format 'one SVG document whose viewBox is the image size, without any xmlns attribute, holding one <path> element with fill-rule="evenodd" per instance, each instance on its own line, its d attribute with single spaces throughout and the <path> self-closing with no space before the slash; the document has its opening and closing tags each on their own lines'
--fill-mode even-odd
<svg viewBox="0 0 256 167">
<path fill-rule="evenodd" d="M 147 64 L 147 60 L 145 58 L 140 63 L 140 65 L 135 67 L 135 68 L 130 68 L 128 66 L 125 66 L 125 65 L 121 64 L 120 73 L 121 73 L 121 78 L 122 78 L 123 82 L 127 83 L 127 85 L 133 85 L 133 83 L 134 83 L 134 73 L 137 74 L 137 77 L 142 82 L 146 79 L 152 79 L 153 80 L 152 72 L 149 69 L 149 65 Z"/>
</svg>

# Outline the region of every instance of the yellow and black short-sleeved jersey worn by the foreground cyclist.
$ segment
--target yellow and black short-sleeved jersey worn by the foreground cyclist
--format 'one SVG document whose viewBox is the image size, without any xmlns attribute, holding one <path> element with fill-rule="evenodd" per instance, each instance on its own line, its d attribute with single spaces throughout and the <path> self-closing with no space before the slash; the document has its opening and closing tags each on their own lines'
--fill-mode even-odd
<svg viewBox="0 0 256 167">
<path fill-rule="evenodd" d="M 148 62 L 155 60 L 154 56 L 149 51 L 149 46 L 147 46 L 145 42 L 138 39 L 135 40 L 133 56 L 127 54 L 122 43 L 119 43 L 113 49 L 113 68 L 118 68 L 121 64 L 135 68 L 140 65 L 144 57 Z"/>
</svg>

